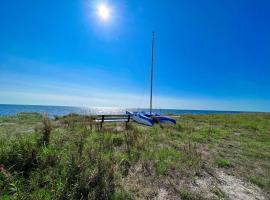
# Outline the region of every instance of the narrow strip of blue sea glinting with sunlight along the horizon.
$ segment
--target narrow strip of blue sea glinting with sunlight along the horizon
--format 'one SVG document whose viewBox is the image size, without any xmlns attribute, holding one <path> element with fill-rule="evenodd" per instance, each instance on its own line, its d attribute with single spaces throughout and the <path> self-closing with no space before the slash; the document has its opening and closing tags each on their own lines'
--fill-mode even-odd
<svg viewBox="0 0 270 200">
<path fill-rule="evenodd" d="M 129 111 L 144 111 L 149 109 L 124 109 L 124 108 L 108 108 L 108 107 L 70 107 L 70 106 L 38 106 L 38 105 L 7 105 L 0 104 L 0 116 L 16 115 L 21 112 L 38 112 L 48 113 L 50 117 L 63 116 L 70 113 L 87 114 L 87 115 L 110 115 L 110 114 L 125 114 Z M 213 110 L 179 110 L 179 109 L 153 109 L 154 113 L 158 114 L 218 114 L 218 113 L 240 113 L 237 111 L 213 111 Z"/>
</svg>

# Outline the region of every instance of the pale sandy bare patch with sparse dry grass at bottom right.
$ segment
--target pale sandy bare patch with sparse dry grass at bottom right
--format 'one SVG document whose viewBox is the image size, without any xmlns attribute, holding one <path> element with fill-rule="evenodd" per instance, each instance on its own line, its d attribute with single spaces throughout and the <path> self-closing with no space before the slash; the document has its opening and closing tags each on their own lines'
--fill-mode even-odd
<svg viewBox="0 0 270 200">
<path fill-rule="evenodd" d="M 225 200 L 269 200 L 259 187 L 230 175 L 225 170 L 214 169 L 211 173 L 203 172 L 194 179 L 174 177 L 160 178 L 158 181 L 137 165 L 133 168 L 124 184 L 137 191 L 136 199 L 177 200 L 177 199 L 225 199 Z M 189 188 L 191 196 L 179 196 L 181 187 Z M 139 191 L 139 192 L 138 192 Z"/>
</svg>

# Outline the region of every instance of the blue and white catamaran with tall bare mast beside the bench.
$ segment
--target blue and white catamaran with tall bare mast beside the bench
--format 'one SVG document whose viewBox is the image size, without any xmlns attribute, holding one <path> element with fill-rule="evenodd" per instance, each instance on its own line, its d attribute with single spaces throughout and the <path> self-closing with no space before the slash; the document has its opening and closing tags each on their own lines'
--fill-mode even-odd
<svg viewBox="0 0 270 200">
<path fill-rule="evenodd" d="M 176 120 L 164 115 L 159 115 L 152 112 L 152 97 L 153 97 L 153 72 L 154 72 L 154 32 L 152 32 L 152 63 L 151 63 L 151 77 L 150 77 L 150 109 L 149 113 L 145 112 L 130 112 L 126 111 L 126 114 L 130 115 L 131 118 L 140 124 L 147 126 L 153 126 L 155 123 L 161 124 L 176 124 Z"/>
</svg>

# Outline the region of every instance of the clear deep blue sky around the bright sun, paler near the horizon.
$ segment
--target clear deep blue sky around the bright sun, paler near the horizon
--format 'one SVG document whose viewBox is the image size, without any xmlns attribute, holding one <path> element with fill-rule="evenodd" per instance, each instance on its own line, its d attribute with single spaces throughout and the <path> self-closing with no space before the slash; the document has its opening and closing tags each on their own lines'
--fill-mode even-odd
<svg viewBox="0 0 270 200">
<path fill-rule="evenodd" d="M 97 15 L 107 4 L 110 18 Z M 270 2 L 0 3 L 0 103 L 270 111 Z"/>
</svg>

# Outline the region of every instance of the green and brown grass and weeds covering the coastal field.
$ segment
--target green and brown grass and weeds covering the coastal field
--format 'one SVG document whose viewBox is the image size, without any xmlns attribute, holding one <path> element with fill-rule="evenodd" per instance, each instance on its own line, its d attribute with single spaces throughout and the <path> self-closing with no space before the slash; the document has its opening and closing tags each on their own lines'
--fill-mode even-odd
<svg viewBox="0 0 270 200">
<path fill-rule="evenodd" d="M 207 199 L 192 185 L 216 170 L 270 192 L 270 114 L 184 115 L 174 127 L 102 130 L 92 119 L 0 117 L 0 199 Z M 204 190 L 228 198 L 218 186 Z"/>
</svg>

